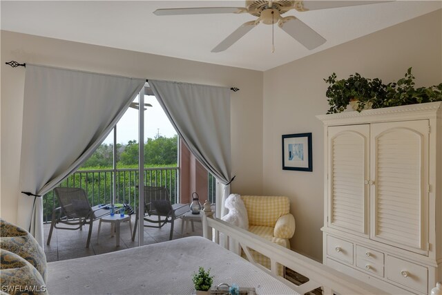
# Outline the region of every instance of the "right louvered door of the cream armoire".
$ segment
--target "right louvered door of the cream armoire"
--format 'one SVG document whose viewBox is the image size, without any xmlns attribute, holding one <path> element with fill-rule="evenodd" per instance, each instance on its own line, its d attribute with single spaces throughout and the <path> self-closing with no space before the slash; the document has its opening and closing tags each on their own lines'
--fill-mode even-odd
<svg viewBox="0 0 442 295">
<path fill-rule="evenodd" d="M 373 240 L 425 254 L 427 250 L 427 120 L 372 124 Z"/>
</svg>

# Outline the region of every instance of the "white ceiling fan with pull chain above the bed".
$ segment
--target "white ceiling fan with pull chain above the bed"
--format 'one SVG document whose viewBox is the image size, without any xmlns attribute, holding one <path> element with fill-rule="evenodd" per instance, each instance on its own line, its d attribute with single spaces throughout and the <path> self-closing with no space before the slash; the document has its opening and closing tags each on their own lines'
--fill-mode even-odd
<svg viewBox="0 0 442 295">
<path fill-rule="evenodd" d="M 165 8 L 157 9 L 153 13 L 155 15 L 204 15 L 204 14 L 218 14 L 218 13 L 249 13 L 258 17 L 255 21 L 247 21 L 243 23 L 238 29 L 227 36 L 220 44 L 211 50 L 212 53 L 219 53 L 227 50 L 241 37 L 247 34 L 252 28 L 259 23 L 273 25 L 278 23 L 287 34 L 296 39 L 300 44 L 307 49 L 312 50 L 325 43 L 325 40 L 315 30 L 307 26 L 294 16 L 282 17 L 285 12 L 295 9 L 299 12 L 308 10 L 318 10 L 325 8 L 338 8 L 345 6 L 356 6 L 372 3 L 383 3 L 390 1 L 246 1 L 246 7 L 201 7 L 201 8 Z"/>
</svg>

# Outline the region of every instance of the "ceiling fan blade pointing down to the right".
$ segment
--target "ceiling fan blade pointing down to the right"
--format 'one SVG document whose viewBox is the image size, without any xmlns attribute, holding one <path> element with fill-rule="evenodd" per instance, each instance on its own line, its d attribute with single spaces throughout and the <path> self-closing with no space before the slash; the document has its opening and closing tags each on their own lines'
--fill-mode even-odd
<svg viewBox="0 0 442 295">
<path fill-rule="evenodd" d="M 327 41 L 315 32 L 315 30 L 296 17 L 283 17 L 278 22 L 278 26 L 309 50 L 312 50 Z"/>
</svg>

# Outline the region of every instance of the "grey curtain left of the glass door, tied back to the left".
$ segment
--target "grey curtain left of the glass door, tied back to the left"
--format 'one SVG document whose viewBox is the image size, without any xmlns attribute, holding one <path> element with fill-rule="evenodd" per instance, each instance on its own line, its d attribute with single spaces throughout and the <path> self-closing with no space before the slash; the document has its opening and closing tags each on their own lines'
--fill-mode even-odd
<svg viewBox="0 0 442 295">
<path fill-rule="evenodd" d="M 42 196 L 102 143 L 146 80 L 26 64 L 20 190 Z M 17 222 L 43 247 L 43 202 L 21 193 Z"/>
</svg>

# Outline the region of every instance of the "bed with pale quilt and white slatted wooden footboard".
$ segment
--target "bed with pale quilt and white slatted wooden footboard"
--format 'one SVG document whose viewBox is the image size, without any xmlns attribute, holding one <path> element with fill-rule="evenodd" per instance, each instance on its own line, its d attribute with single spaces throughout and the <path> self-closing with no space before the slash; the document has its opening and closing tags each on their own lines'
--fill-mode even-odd
<svg viewBox="0 0 442 295">
<path fill-rule="evenodd" d="M 189 237 L 109 254 L 48 263 L 49 294 L 192 294 L 191 275 L 210 268 L 213 286 L 221 283 L 256 289 L 256 294 L 382 294 L 354 278 L 211 216 L 202 216 L 203 237 Z M 271 269 L 241 258 L 255 249 L 268 256 Z M 232 251 L 229 251 L 231 249 Z M 278 275 L 280 263 L 309 278 L 294 285 Z"/>
</svg>

